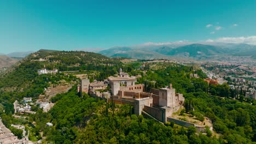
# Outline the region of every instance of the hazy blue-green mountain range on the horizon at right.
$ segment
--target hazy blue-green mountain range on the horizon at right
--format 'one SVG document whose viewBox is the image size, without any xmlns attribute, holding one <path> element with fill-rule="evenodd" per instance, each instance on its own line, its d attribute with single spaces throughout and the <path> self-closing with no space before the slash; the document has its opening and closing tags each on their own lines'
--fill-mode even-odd
<svg viewBox="0 0 256 144">
<path fill-rule="evenodd" d="M 256 59 L 256 46 L 230 43 L 147 43 L 136 46 L 118 46 L 99 51 L 108 57 L 127 57 L 135 59 L 191 58 L 214 59 L 226 56 L 246 56 Z"/>
</svg>

